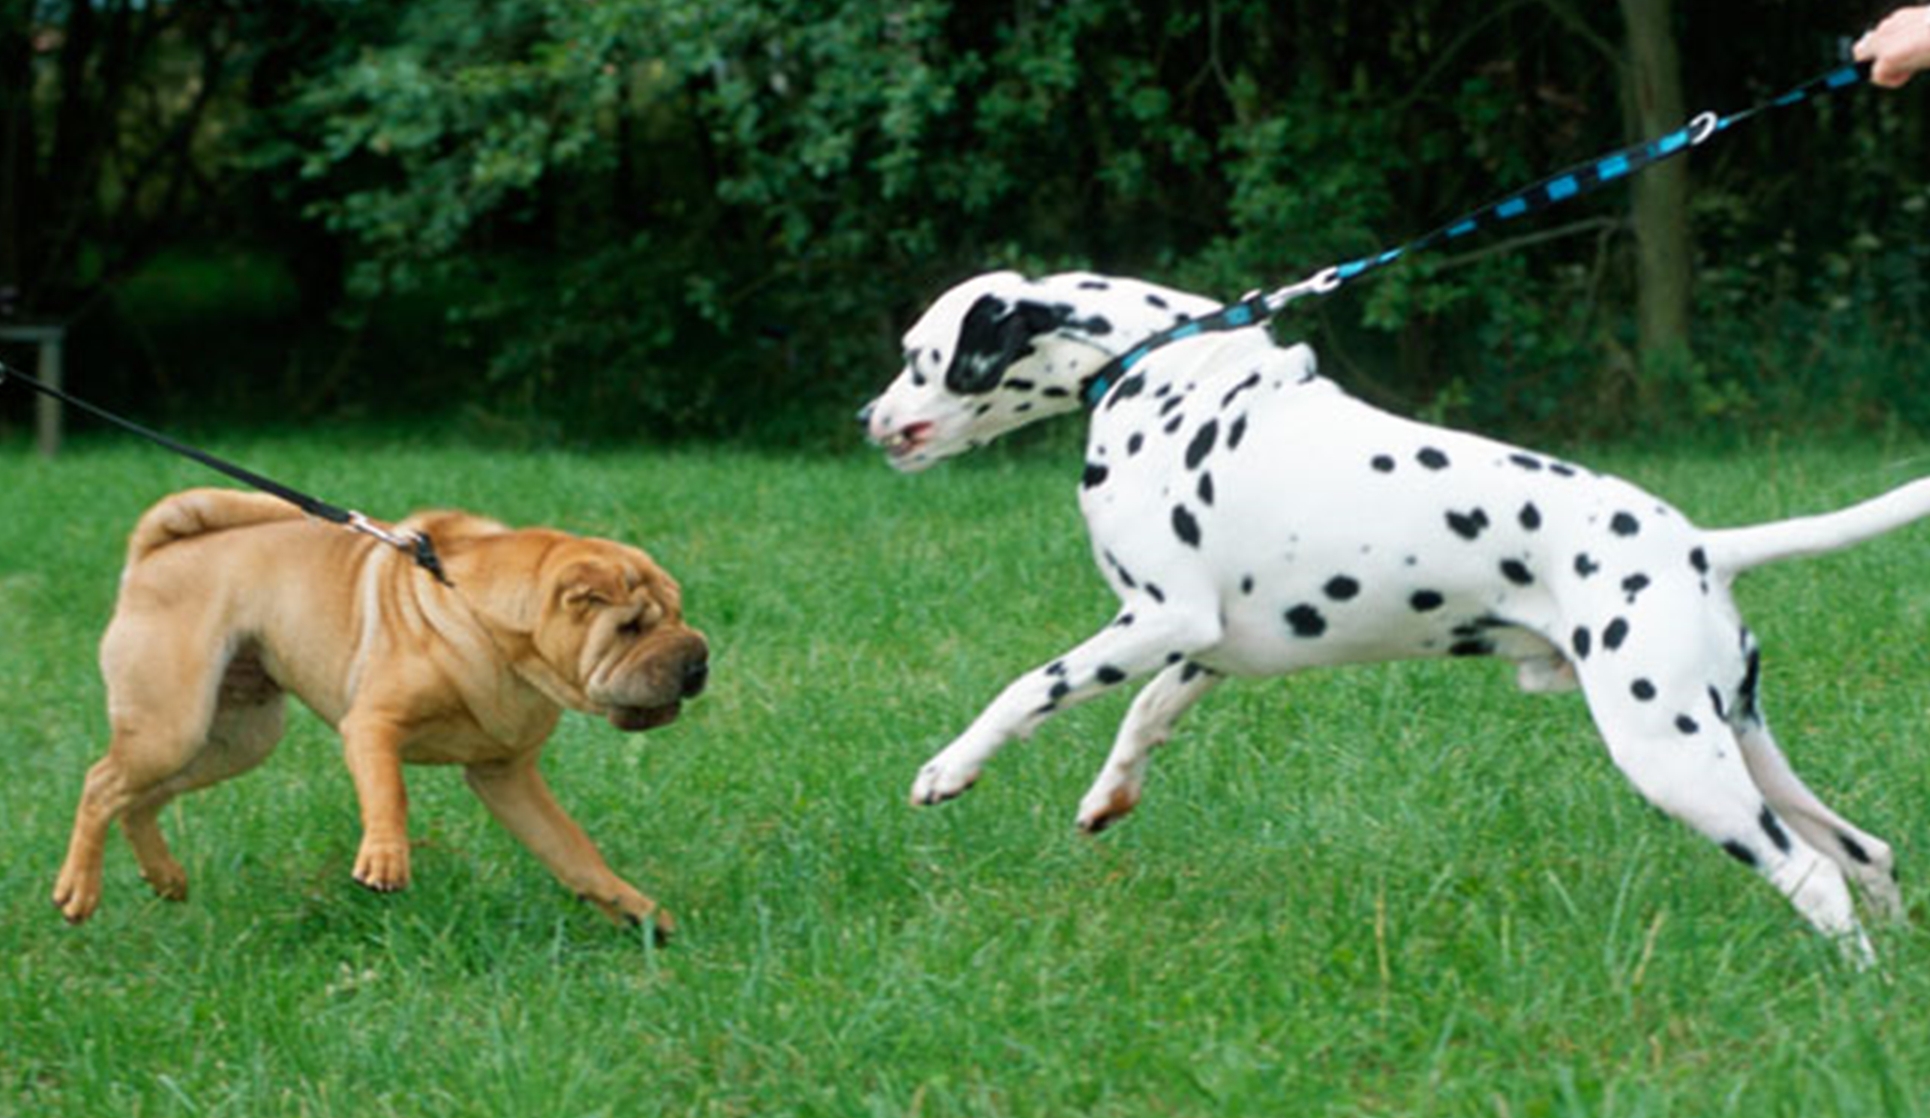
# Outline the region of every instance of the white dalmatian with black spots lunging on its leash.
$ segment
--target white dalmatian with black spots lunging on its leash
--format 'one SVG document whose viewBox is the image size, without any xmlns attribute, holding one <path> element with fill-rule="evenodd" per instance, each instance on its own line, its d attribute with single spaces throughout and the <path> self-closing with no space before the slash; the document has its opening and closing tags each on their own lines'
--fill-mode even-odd
<svg viewBox="0 0 1930 1118">
<path fill-rule="evenodd" d="M 992 272 L 905 332 L 903 373 L 861 413 L 899 471 L 1092 407 L 1079 504 L 1121 602 L 934 755 L 913 803 L 959 796 L 1013 738 L 1150 678 L 1079 803 L 1096 832 L 1133 811 L 1150 751 L 1226 676 L 1500 657 L 1523 689 L 1579 685 L 1642 796 L 1872 958 L 1849 880 L 1901 915 L 1889 844 L 1778 749 L 1729 585 L 1930 514 L 1930 479 L 1826 516 L 1700 529 L 1627 481 L 1370 407 L 1264 326 L 1172 342 L 1094 384 L 1116 355 L 1218 309 L 1139 280 Z"/>
</svg>

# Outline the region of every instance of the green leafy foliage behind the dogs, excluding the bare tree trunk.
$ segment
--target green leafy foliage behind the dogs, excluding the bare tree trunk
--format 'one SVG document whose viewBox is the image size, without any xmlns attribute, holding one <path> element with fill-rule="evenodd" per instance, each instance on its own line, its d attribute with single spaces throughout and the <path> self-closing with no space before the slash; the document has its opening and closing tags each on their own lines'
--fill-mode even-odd
<svg viewBox="0 0 1930 1118">
<path fill-rule="evenodd" d="M 266 8 L 278 23 L 205 0 L 100 12 L 222 27 L 147 81 L 181 102 L 183 60 L 224 44 L 224 81 L 193 87 L 226 91 L 203 112 L 235 126 L 189 131 L 228 160 L 210 182 L 268 201 L 241 232 L 340 261 L 297 266 L 351 328 L 436 309 L 423 342 L 452 355 L 448 392 L 558 434 L 822 436 L 965 274 L 1094 266 L 1231 297 L 1639 131 L 1619 14 L 1571 0 Z M 1822 0 L 1747 25 L 1687 8 L 1669 29 L 1691 108 L 1793 85 L 1855 29 Z M 77 17 L 21 25 L 48 12 Z M 41 83 L 66 64 L 42 56 Z M 1515 433 L 1930 421 L 1905 392 L 1926 112 L 1857 93 L 1698 153 L 1677 361 L 1639 359 L 1627 193 L 1280 330 L 1368 394 Z"/>
</svg>

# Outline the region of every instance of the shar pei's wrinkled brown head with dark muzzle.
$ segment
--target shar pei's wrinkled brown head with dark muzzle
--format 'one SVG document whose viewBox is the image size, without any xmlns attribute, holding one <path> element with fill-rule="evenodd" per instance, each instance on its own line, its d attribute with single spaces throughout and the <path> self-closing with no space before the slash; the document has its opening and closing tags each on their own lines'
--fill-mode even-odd
<svg viewBox="0 0 1930 1118">
<path fill-rule="evenodd" d="M 683 591 L 641 550 L 565 537 L 550 548 L 535 643 L 581 701 L 618 730 L 676 720 L 710 676 L 704 635 L 683 624 Z"/>
</svg>

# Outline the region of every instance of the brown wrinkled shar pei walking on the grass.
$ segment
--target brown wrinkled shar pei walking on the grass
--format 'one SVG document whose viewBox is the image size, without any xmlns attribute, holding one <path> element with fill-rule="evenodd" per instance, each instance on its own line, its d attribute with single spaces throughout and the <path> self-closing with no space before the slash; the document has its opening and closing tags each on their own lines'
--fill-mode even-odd
<svg viewBox="0 0 1930 1118">
<path fill-rule="evenodd" d="M 141 517 L 100 639 L 112 740 L 87 772 L 54 884 L 68 921 L 100 904 L 116 819 L 154 892 L 187 896 L 156 815 L 264 761 L 291 691 L 342 734 L 361 884 L 409 884 L 401 765 L 461 765 L 567 888 L 616 921 L 670 931 L 558 807 L 537 757 L 565 707 L 652 730 L 703 689 L 708 647 L 683 624 L 677 583 L 610 541 L 461 512 L 398 527 L 434 541 L 454 587 L 270 496 L 193 489 Z"/>
</svg>

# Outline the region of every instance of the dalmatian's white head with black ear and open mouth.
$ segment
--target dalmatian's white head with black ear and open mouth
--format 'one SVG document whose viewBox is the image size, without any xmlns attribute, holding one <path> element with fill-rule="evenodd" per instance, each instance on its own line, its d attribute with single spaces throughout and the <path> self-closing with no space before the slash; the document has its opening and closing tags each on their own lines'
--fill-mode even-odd
<svg viewBox="0 0 1930 1118">
<path fill-rule="evenodd" d="M 905 369 L 859 413 L 867 436 L 911 473 L 1075 411 L 1117 334 L 1104 290 L 1085 282 L 988 272 L 946 292 L 905 330 Z"/>
</svg>

